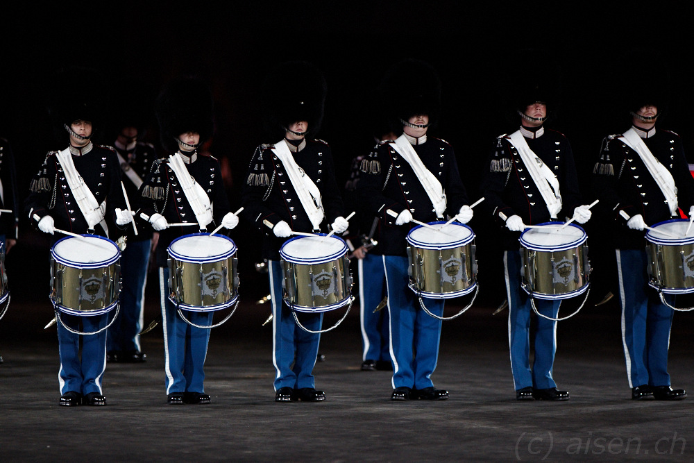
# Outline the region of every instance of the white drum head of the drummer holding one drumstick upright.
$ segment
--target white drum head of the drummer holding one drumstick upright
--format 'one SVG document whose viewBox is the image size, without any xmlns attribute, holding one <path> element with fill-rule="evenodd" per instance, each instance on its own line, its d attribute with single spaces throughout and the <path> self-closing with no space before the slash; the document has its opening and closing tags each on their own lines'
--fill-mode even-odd
<svg viewBox="0 0 694 463">
<path fill-rule="evenodd" d="M 53 245 L 51 255 L 57 262 L 68 267 L 97 269 L 118 260 L 121 251 L 108 238 L 86 235 L 61 239 Z"/>
</svg>

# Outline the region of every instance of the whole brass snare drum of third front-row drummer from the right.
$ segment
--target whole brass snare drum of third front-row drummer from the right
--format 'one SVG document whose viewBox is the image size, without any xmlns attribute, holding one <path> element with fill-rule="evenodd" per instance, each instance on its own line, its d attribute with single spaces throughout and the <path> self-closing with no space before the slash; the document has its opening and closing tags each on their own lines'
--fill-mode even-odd
<svg viewBox="0 0 694 463">
<path fill-rule="evenodd" d="M 407 233 L 410 289 L 437 299 L 468 294 L 477 286 L 475 233 L 457 222 L 430 225 L 443 228 L 420 225 Z"/>
</svg>

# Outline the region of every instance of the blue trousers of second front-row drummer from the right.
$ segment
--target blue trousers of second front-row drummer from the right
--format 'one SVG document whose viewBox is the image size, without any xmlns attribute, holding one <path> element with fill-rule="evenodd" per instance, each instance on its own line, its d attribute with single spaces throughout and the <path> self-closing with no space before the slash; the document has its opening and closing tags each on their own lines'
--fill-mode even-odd
<svg viewBox="0 0 694 463">
<path fill-rule="evenodd" d="M 530 320 L 532 299 L 521 289 L 521 253 L 504 251 L 506 291 L 509 301 L 509 348 L 511 372 L 516 391 L 524 387 L 550 389 L 557 387 L 552 378 L 552 366 L 557 352 L 557 322 L 537 317 L 535 330 L 535 360 L 530 369 Z M 536 299 L 541 314 L 556 319 L 561 301 Z"/>
</svg>

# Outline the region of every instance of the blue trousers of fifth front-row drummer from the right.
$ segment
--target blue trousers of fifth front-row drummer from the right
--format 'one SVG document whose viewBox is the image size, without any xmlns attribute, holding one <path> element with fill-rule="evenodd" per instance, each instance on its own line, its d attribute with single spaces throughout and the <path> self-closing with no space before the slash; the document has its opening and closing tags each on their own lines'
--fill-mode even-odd
<svg viewBox="0 0 694 463">
<path fill-rule="evenodd" d="M 176 305 L 169 301 L 169 269 L 160 267 L 159 288 L 164 330 L 164 371 L 167 394 L 205 392 L 205 357 L 208 355 L 210 328 L 196 328 L 183 320 Z M 212 325 L 212 312 L 183 310 L 185 318 L 199 326 Z"/>
</svg>

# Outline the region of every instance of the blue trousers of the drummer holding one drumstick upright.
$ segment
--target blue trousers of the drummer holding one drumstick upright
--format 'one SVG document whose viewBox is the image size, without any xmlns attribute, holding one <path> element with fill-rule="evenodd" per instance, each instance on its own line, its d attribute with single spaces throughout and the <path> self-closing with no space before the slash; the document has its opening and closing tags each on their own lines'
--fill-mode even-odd
<svg viewBox="0 0 694 463">
<path fill-rule="evenodd" d="M 58 322 L 60 394 L 71 391 L 85 395 L 90 392 L 101 394 L 101 379 L 106 369 L 106 330 L 96 335 L 76 335 L 62 326 L 62 323 L 69 326 L 71 330 L 95 332 L 108 325 L 109 317 L 114 315 L 115 312 L 109 312 L 92 317 L 79 317 L 60 312 Z M 81 359 L 80 340 L 82 341 Z"/>
</svg>

